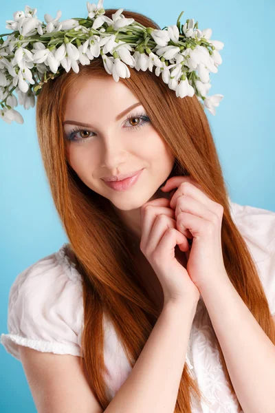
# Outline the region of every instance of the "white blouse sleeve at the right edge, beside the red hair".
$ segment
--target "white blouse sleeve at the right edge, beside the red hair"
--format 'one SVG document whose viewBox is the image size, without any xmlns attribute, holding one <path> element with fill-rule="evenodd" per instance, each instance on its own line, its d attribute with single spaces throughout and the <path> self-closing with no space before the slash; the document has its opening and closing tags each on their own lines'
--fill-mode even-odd
<svg viewBox="0 0 275 413">
<path fill-rule="evenodd" d="M 258 269 L 270 312 L 275 315 L 275 212 L 232 201 L 230 207 Z"/>
</svg>

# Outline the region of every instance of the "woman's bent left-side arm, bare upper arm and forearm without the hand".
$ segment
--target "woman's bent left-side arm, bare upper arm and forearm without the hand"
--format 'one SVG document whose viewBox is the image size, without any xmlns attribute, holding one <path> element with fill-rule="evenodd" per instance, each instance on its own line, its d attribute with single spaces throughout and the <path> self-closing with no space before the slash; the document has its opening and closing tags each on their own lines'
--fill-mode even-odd
<svg viewBox="0 0 275 413">
<path fill-rule="evenodd" d="M 129 377 L 104 412 L 173 413 L 197 301 L 166 302 Z M 39 413 L 102 413 L 79 357 L 19 346 Z"/>
</svg>

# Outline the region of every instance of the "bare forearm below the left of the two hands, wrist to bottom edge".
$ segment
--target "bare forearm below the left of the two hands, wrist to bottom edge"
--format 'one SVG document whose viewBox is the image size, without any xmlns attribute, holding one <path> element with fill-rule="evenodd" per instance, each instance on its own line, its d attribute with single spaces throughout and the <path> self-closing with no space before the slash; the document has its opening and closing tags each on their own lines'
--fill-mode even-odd
<svg viewBox="0 0 275 413">
<path fill-rule="evenodd" d="M 173 413 L 197 301 L 164 304 L 129 377 L 106 413 Z"/>
</svg>

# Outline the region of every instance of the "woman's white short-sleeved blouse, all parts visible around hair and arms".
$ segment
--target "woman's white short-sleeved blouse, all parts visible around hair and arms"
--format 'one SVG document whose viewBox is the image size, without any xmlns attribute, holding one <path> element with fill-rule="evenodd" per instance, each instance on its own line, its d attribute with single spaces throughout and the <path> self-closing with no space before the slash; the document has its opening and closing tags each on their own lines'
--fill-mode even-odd
<svg viewBox="0 0 275 413">
<path fill-rule="evenodd" d="M 236 226 L 248 244 L 272 315 L 275 314 L 275 212 L 230 201 Z M 69 244 L 30 265 L 10 289 L 8 334 L 1 343 L 20 360 L 18 345 L 41 352 L 80 356 L 83 331 L 82 279 L 67 255 Z M 209 405 L 192 400 L 192 413 L 236 413 L 214 344 L 206 306 L 200 297 L 192 322 L 186 363 Z M 115 330 L 104 314 L 104 362 L 109 401 L 131 372 Z"/>
</svg>

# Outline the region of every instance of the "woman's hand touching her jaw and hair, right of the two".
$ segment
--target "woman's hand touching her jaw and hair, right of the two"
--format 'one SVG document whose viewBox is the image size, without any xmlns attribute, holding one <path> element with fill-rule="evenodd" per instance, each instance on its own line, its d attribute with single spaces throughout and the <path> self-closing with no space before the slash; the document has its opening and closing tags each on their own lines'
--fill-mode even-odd
<svg viewBox="0 0 275 413">
<path fill-rule="evenodd" d="M 227 277 L 221 248 L 222 205 L 208 198 L 189 176 L 173 176 L 162 191 L 175 188 L 170 207 L 175 210 L 177 229 L 192 239 L 186 266 L 190 279 L 199 288 L 212 277 Z"/>
</svg>

